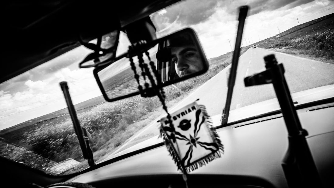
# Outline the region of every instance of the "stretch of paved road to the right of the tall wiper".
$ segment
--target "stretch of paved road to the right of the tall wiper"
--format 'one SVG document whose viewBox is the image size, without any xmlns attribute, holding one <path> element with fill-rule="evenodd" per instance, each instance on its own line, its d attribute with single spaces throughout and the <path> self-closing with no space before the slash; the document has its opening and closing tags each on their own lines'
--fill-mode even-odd
<svg viewBox="0 0 334 188">
<path fill-rule="evenodd" d="M 248 49 L 240 58 L 231 110 L 276 98 L 271 84 L 245 87 L 243 78 L 265 69 L 263 57 L 274 53 L 283 63 L 291 93 L 334 83 L 334 65 L 277 53 L 261 48 Z"/>
</svg>

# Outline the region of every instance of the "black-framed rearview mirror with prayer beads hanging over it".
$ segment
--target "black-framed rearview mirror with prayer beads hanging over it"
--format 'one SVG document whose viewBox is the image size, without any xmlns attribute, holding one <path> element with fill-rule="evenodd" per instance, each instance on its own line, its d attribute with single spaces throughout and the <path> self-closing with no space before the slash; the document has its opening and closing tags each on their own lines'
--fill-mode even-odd
<svg viewBox="0 0 334 188">
<path fill-rule="evenodd" d="M 143 68 L 144 64 L 149 72 Z M 150 43 L 141 41 L 111 63 L 95 67 L 93 73 L 104 98 L 112 102 L 138 94 L 153 96 L 149 94 L 152 84 L 148 74 L 157 87 L 163 87 L 203 74 L 208 68 L 195 31 L 186 28 Z M 139 91 L 139 85 L 144 92 Z"/>
</svg>

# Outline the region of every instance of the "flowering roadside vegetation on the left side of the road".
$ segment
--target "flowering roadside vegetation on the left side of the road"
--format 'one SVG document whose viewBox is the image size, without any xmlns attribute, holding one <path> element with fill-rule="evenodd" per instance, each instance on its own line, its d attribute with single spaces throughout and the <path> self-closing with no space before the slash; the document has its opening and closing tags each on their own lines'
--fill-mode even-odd
<svg viewBox="0 0 334 188">
<path fill-rule="evenodd" d="M 242 47 L 240 55 L 249 47 Z M 229 52 L 209 59 L 210 68 L 205 74 L 176 83 L 174 86 L 164 87 L 167 106 L 172 107 L 192 90 L 228 66 L 231 63 L 232 55 L 233 52 Z M 99 103 L 85 111 L 77 111 L 81 126 L 85 127 L 93 138 L 91 148 L 96 161 L 108 156 L 123 142 L 162 114 L 164 112 L 157 97 L 141 98 L 140 96 L 113 103 Z M 149 136 L 153 137 L 155 135 Z M 33 127 L 19 139 L 24 144 L 31 146 L 35 153 L 2 139 L 0 140 L 1 151 L 4 152 L 2 156 L 20 161 L 22 164 L 44 172 L 47 172 L 47 167 L 68 158 L 75 159 L 82 165 L 62 174 L 79 171 L 87 167 L 87 162 L 82 157 L 73 130 L 72 121 L 68 116 L 62 116 L 61 119 L 52 124 L 47 121 L 47 124 L 45 123 L 43 126 Z M 36 159 L 40 162 L 36 163 Z"/>
</svg>

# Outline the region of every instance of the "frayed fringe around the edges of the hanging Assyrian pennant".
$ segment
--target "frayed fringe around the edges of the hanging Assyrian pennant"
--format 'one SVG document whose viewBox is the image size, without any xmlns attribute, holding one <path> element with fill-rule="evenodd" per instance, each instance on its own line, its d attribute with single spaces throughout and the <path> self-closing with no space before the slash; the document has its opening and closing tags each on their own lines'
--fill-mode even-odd
<svg viewBox="0 0 334 188">
<path fill-rule="evenodd" d="M 165 142 L 165 146 L 168 150 L 168 152 L 170 153 L 170 155 L 172 156 L 172 159 L 174 160 L 175 164 L 177 165 L 177 170 L 179 170 L 180 172 L 184 173 L 183 170 L 186 170 L 187 172 L 191 172 L 196 170 L 199 167 L 202 167 L 204 165 L 206 165 L 207 163 L 211 162 L 212 160 L 216 159 L 216 158 L 220 158 L 221 154 L 224 154 L 224 146 L 221 143 L 218 134 L 216 133 L 214 127 L 213 127 L 213 123 L 212 123 L 212 119 L 211 117 L 208 115 L 205 106 L 203 105 L 198 105 L 198 107 L 201 109 L 206 125 L 208 126 L 208 128 L 210 129 L 210 136 L 212 138 L 212 140 L 215 141 L 215 143 L 218 146 L 218 150 L 205 156 L 202 157 L 194 162 L 192 162 L 190 165 L 185 166 L 183 169 L 183 165 L 181 164 L 181 159 L 179 157 L 179 155 L 177 154 L 173 143 L 171 143 L 172 141 L 170 140 L 169 136 L 167 135 L 167 133 L 163 130 L 163 126 L 161 125 L 159 128 L 160 131 L 160 136 L 164 139 Z"/>
</svg>

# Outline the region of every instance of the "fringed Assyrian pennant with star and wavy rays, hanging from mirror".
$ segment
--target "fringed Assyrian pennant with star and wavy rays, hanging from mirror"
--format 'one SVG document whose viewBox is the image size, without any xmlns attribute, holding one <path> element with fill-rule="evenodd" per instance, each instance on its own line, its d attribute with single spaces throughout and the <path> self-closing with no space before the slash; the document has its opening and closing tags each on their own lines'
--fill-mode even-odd
<svg viewBox="0 0 334 188">
<path fill-rule="evenodd" d="M 191 103 L 160 120 L 160 134 L 181 172 L 190 172 L 221 157 L 224 148 L 203 105 Z"/>
</svg>

